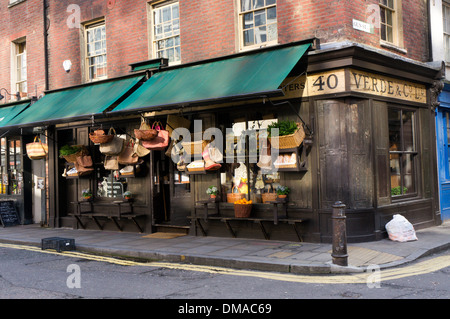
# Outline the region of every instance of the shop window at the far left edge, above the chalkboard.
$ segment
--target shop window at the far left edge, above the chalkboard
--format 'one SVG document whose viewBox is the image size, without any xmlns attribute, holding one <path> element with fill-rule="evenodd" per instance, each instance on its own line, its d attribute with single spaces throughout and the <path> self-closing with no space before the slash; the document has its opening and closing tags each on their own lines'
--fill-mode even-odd
<svg viewBox="0 0 450 319">
<path fill-rule="evenodd" d="M 0 144 L 1 194 L 20 195 L 23 189 L 21 141 L 2 138 Z"/>
</svg>

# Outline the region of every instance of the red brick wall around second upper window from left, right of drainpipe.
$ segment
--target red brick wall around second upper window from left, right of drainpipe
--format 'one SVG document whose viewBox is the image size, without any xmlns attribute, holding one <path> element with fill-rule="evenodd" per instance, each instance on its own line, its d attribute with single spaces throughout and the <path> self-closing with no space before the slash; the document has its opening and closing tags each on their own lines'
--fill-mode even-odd
<svg viewBox="0 0 450 319">
<path fill-rule="evenodd" d="M 70 4 L 80 7 L 80 22 L 104 18 L 106 25 L 108 78 L 129 74 L 130 63 L 148 59 L 147 11 L 143 0 L 49 0 L 49 60 L 50 88 L 56 89 L 82 82 L 81 30 L 69 28 L 67 20 L 75 11 L 67 12 Z M 72 69 L 66 73 L 63 61 L 70 60 Z"/>
</svg>

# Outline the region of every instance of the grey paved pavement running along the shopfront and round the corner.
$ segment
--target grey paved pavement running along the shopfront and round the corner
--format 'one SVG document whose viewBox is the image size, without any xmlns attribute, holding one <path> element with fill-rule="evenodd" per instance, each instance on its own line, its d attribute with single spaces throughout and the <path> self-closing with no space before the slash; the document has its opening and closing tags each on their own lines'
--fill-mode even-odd
<svg viewBox="0 0 450 319">
<path fill-rule="evenodd" d="M 76 250 L 118 258 L 189 263 L 296 274 L 364 272 L 370 265 L 397 267 L 450 248 L 450 220 L 417 230 L 417 241 L 390 239 L 347 245 L 348 266 L 332 263 L 331 244 L 198 237 L 175 233 L 114 231 L 19 225 L 0 228 L 0 243 L 41 247 L 48 237 L 75 239 Z"/>
</svg>

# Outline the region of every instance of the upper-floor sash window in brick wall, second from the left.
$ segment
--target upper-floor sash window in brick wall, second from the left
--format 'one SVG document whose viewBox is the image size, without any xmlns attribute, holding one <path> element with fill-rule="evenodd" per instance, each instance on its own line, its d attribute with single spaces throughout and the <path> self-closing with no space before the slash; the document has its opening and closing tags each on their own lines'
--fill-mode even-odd
<svg viewBox="0 0 450 319">
<path fill-rule="evenodd" d="M 85 26 L 86 80 L 95 81 L 107 77 L 105 22 Z"/>
</svg>

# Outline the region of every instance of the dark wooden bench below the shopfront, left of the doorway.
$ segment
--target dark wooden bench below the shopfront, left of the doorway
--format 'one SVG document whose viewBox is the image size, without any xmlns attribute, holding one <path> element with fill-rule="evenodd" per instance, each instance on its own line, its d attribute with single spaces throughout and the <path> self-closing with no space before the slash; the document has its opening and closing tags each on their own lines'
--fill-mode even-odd
<svg viewBox="0 0 450 319">
<path fill-rule="evenodd" d="M 86 229 L 86 226 L 81 221 L 82 217 L 92 219 L 100 230 L 103 230 L 103 226 L 100 224 L 99 218 L 108 218 L 114 222 L 119 231 L 122 231 L 122 227 L 120 226 L 119 221 L 121 219 L 129 219 L 133 221 L 140 233 L 144 232 L 142 227 L 137 222 L 136 217 L 143 216 L 145 214 L 136 214 L 134 212 L 132 200 L 117 200 L 113 202 L 105 202 L 104 205 L 112 205 L 113 207 L 115 207 L 117 209 L 116 213 L 94 212 L 94 205 L 96 204 L 94 200 L 76 201 L 72 202 L 72 204 L 75 205 L 75 213 L 69 215 L 75 217 L 75 219 L 83 229 Z M 83 206 L 88 206 L 88 210 L 83 210 Z"/>
</svg>

